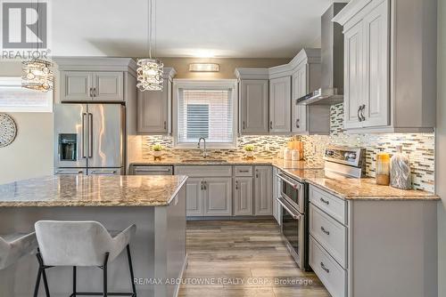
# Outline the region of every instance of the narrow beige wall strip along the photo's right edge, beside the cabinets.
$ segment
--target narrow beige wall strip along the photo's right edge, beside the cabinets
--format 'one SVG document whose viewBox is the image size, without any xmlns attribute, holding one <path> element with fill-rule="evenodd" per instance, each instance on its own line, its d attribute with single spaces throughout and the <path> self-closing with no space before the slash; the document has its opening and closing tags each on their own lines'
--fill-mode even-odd
<svg viewBox="0 0 446 297">
<path fill-rule="evenodd" d="M 438 205 L 438 296 L 446 296 L 446 1 L 438 2 L 438 96 L 436 129 L 436 192 Z"/>
</svg>

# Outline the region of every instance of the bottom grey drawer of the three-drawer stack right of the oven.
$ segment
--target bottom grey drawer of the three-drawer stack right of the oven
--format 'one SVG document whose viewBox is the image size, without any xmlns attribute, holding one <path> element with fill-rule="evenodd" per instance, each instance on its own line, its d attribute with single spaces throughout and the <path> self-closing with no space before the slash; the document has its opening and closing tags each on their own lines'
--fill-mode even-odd
<svg viewBox="0 0 446 297">
<path fill-rule="evenodd" d="M 310 266 L 333 297 L 346 296 L 347 272 L 310 236 Z"/>
</svg>

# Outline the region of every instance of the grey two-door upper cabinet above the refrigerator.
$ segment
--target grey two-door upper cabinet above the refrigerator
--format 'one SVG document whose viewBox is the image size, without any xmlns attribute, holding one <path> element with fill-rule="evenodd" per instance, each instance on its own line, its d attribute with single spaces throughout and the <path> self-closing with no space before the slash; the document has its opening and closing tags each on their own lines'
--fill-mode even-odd
<svg viewBox="0 0 446 297">
<path fill-rule="evenodd" d="M 136 93 L 136 63 L 132 59 L 55 58 L 54 61 L 60 71 L 61 102 L 124 102 Z"/>
</svg>

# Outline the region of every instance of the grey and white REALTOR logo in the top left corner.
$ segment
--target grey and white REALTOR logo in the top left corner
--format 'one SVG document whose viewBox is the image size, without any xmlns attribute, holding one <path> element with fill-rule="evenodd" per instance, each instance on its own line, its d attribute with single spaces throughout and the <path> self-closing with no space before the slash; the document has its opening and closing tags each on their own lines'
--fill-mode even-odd
<svg viewBox="0 0 446 297">
<path fill-rule="evenodd" d="M 0 2 L 3 58 L 26 59 L 46 56 L 49 52 L 48 4 L 44 1 L 28 3 L 0 0 Z"/>
</svg>

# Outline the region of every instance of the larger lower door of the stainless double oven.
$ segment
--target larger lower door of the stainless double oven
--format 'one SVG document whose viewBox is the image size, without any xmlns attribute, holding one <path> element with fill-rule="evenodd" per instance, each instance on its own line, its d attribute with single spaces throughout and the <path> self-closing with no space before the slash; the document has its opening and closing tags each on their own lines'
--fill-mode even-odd
<svg viewBox="0 0 446 297">
<path fill-rule="evenodd" d="M 288 204 L 284 198 L 277 198 L 282 206 L 282 235 L 285 244 L 297 265 L 303 268 L 304 254 L 304 216 Z"/>
</svg>

